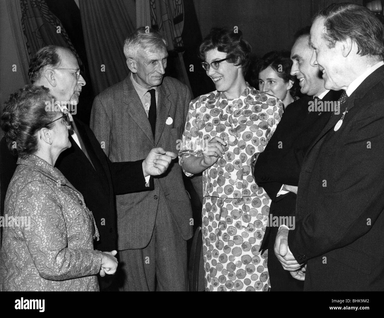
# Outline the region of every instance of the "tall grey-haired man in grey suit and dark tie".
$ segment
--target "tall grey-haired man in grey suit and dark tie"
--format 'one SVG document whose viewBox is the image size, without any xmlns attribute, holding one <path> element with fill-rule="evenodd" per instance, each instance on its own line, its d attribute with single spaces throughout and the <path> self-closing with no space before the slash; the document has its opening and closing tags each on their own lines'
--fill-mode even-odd
<svg viewBox="0 0 384 318">
<path fill-rule="evenodd" d="M 177 151 L 189 109 L 187 86 L 166 76 L 166 41 L 139 28 L 124 43 L 131 73 L 99 94 L 91 128 L 111 161 L 137 160 L 152 147 Z M 177 161 L 154 178 L 154 190 L 118 195 L 119 260 L 122 290 L 186 291 L 187 244 L 192 209 Z"/>
</svg>

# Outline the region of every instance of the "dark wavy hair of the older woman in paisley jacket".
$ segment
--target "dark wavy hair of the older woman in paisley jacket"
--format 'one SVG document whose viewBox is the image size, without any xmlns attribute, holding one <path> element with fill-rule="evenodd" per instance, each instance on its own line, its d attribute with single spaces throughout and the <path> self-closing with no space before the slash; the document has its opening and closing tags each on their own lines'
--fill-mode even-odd
<svg viewBox="0 0 384 318">
<path fill-rule="evenodd" d="M 13 154 L 16 150 L 19 157 L 25 158 L 38 150 L 36 132 L 43 127 L 51 129 L 53 123 L 48 123 L 56 115 L 45 110 L 46 102 L 51 103 L 52 98 L 48 88 L 26 85 L 5 102 L 0 124 Z"/>
</svg>

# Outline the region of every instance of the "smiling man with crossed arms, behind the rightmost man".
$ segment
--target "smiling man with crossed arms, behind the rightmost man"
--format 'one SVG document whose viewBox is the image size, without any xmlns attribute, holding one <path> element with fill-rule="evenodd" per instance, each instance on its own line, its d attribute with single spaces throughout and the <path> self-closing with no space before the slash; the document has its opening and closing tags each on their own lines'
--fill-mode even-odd
<svg viewBox="0 0 384 318">
<path fill-rule="evenodd" d="M 296 33 L 291 50 L 291 75 L 299 79 L 301 93 L 308 96 L 286 108 L 275 133 L 255 164 L 255 180 L 272 199 L 271 220 L 273 217 L 295 215 L 297 185 L 306 150 L 331 117 L 330 111 L 309 111 L 310 105 L 320 101 L 323 104 L 326 101 L 336 103 L 341 94 L 341 91 L 325 89 L 319 67 L 310 65 L 313 49 L 309 40 L 310 26 L 307 26 Z M 273 252 L 277 231 L 278 227 L 269 224 L 260 248 L 268 248 L 271 291 L 302 291 L 304 277 L 296 275 L 301 280 L 294 279 L 290 274 L 293 272 L 285 271 Z"/>
</svg>

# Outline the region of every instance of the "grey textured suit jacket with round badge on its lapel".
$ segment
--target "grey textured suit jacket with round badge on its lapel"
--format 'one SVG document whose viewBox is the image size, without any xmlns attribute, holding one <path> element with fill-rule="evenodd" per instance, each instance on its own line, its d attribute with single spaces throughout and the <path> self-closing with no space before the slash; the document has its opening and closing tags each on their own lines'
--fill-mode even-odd
<svg viewBox="0 0 384 318">
<path fill-rule="evenodd" d="M 96 96 L 91 128 L 98 140 L 105 141 L 104 152 L 113 162 L 135 161 L 153 147 L 178 152 L 190 102 L 187 86 L 164 77 L 158 86 L 155 139 L 147 114 L 130 76 Z M 172 123 L 166 124 L 167 118 Z M 119 250 L 144 248 L 154 229 L 159 200 L 164 200 L 182 237 L 192 237 L 192 210 L 177 159 L 167 172 L 154 178 L 154 190 L 118 195 Z"/>
</svg>

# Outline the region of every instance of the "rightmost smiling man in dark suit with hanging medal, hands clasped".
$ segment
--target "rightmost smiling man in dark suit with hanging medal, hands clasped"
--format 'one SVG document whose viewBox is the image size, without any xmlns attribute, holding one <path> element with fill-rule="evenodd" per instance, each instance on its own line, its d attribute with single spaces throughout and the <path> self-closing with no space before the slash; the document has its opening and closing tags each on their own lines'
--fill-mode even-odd
<svg viewBox="0 0 384 318">
<path fill-rule="evenodd" d="M 275 252 L 287 270 L 307 263 L 305 290 L 384 290 L 384 27 L 361 5 L 332 4 L 310 40 L 325 88 L 348 98 L 308 148 L 296 228 L 279 230 Z"/>
</svg>

